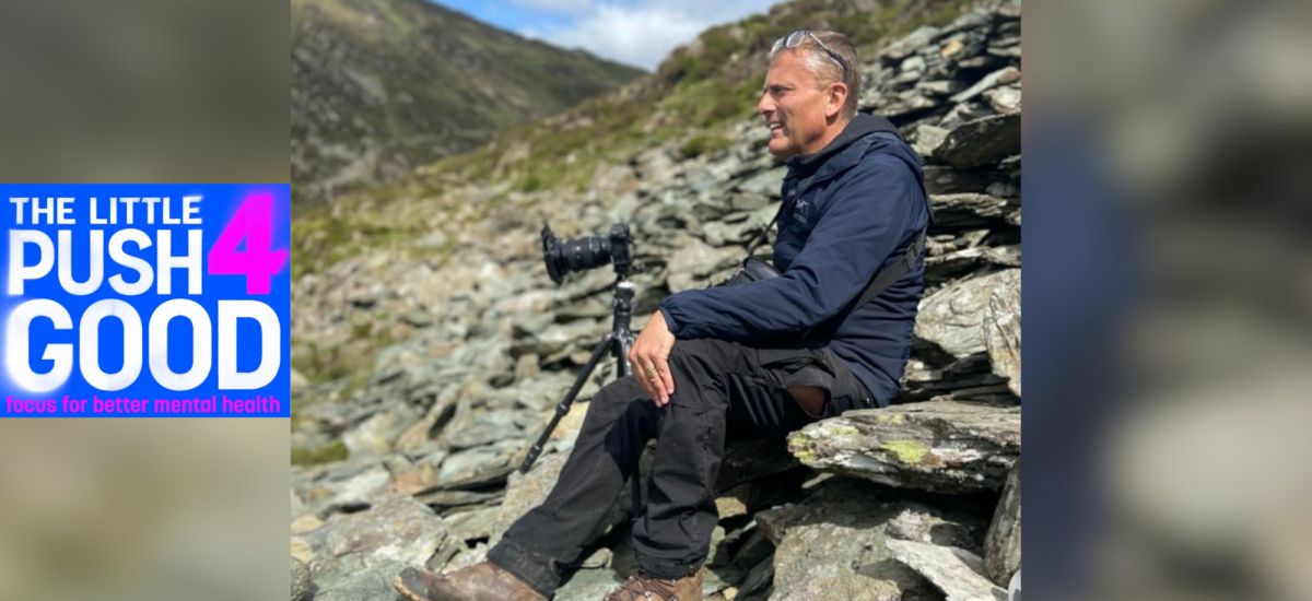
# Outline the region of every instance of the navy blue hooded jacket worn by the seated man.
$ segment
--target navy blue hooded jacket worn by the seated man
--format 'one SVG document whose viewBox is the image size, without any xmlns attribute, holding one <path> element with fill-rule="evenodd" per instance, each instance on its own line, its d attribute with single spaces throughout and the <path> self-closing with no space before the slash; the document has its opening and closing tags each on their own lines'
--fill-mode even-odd
<svg viewBox="0 0 1312 601">
<path fill-rule="evenodd" d="M 836 320 L 929 220 L 920 160 L 895 134 L 875 131 L 880 122 L 858 114 L 820 152 L 789 160 L 782 207 L 792 210 L 779 217 L 774 243 L 782 276 L 666 297 L 660 308 L 676 339 L 795 340 L 819 328 L 811 339 L 828 342 L 888 404 L 911 354 L 924 253 L 888 290 Z"/>
</svg>

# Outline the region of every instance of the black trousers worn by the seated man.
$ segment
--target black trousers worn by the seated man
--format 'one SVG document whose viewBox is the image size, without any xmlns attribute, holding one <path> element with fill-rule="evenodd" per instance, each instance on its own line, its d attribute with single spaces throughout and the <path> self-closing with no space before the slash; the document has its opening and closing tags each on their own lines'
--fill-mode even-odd
<svg viewBox="0 0 1312 601">
<path fill-rule="evenodd" d="M 660 577 L 693 573 L 706 560 L 719 521 L 715 479 L 727 440 L 781 436 L 874 407 L 861 381 L 827 348 L 680 340 L 669 366 L 674 394 L 665 407 L 632 377 L 597 392 L 556 486 L 488 551 L 492 563 L 550 598 L 656 437 L 647 508 L 632 533 L 638 564 Z M 827 391 L 823 413 L 807 413 L 789 386 Z"/>
</svg>

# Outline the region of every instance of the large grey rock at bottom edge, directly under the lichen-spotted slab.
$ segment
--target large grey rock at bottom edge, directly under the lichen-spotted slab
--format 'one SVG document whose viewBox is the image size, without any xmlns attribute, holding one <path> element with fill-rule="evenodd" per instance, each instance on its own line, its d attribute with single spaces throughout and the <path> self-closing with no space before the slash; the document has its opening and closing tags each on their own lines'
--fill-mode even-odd
<svg viewBox="0 0 1312 601">
<path fill-rule="evenodd" d="M 807 500 L 756 514 L 774 551 L 774 593 L 779 601 L 899 601 L 924 598 L 929 584 L 891 562 L 884 528 L 908 503 L 888 501 L 887 489 L 833 479 Z M 747 588 L 744 584 L 743 588 Z"/>
</svg>

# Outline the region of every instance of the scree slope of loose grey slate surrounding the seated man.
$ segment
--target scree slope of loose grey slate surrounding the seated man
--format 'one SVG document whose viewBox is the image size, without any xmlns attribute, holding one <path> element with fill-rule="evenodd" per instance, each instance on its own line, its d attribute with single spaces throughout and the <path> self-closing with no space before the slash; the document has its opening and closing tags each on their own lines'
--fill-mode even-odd
<svg viewBox="0 0 1312 601">
<path fill-rule="evenodd" d="M 997 3 L 862 66 L 862 108 L 921 154 L 938 215 L 904 391 L 886 409 L 731 445 L 707 598 L 992 600 L 1018 568 L 1019 34 L 1019 3 Z M 644 150 L 581 196 L 453 192 L 454 228 L 417 240 L 420 252 L 377 249 L 295 282 L 297 332 L 346 353 L 361 339 L 403 341 L 366 378 L 294 392 L 293 445 L 315 461 L 293 467 L 294 598 L 391 600 L 400 567 L 478 562 L 544 499 L 610 365 L 534 470 L 516 468 L 609 329 L 614 277 L 552 286 L 541 218 L 565 235 L 631 223 L 648 268 L 634 278 L 638 329 L 665 294 L 724 277 L 778 209 L 783 168 L 765 127 L 724 131 L 724 148 L 693 159 L 680 139 Z M 422 251 L 441 247 L 459 260 Z M 626 491 L 556 598 L 600 598 L 634 572 L 627 504 Z"/>
</svg>

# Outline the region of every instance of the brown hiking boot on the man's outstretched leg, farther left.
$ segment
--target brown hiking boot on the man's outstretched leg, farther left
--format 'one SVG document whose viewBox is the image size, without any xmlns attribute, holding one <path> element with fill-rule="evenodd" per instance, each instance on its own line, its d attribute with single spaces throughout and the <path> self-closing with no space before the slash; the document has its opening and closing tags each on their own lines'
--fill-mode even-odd
<svg viewBox="0 0 1312 601">
<path fill-rule="evenodd" d="M 482 562 L 446 576 L 405 568 L 392 580 L 392 588 L 409 601 L 547 601 L 547 597 L 492 562 Z"/>
</svg>

